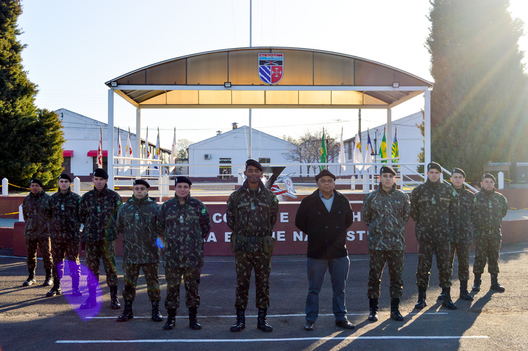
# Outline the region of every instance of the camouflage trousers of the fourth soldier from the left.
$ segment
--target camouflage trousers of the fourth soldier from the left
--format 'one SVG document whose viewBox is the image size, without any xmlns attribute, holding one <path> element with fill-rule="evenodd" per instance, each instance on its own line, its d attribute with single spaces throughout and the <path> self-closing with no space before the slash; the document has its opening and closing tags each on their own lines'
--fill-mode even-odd
<svg viewBox="0 0 528 351">
<path fill-rule="evenodd" d="M 140 268 L 143 270 L 146 280 L 146 293 L 148 299 L 151 301 L 159 301 L 162 299 L 162 292 L 159 290 L 159 280 L 157 279 L 157 263 L 123 263 L 123 299 L 124 301 L 135 300 L 135 287 L 137 286 L 137 278 L 140 276 Z"/>
</svg>

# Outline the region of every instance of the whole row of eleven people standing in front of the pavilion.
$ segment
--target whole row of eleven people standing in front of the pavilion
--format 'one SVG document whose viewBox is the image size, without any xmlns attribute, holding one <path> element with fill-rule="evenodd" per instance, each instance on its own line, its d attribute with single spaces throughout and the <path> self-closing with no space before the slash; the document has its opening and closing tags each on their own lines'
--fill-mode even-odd
<svg viewBox="0 0 528 351">
<path fill-rule="evenodd" d="M 270 306 L 270 273 L 274 249 L 273 227 L 278 215 L 278 200 L 265 188 L 263 168 L 258 161 L 245 163 L 246 179 L 228 199 L 226 218 L 232 229 L 231 243 L 236 264 L 236 323 L 230 328 L 245 328 L 251 273 L 255 274 L 257 328 L 271 332 L 267 323 Z M 442 306 L 456 309 L 450 295 L 454 254 L 459 260 L 460 297 L 472 300 L 467 291 L 470 245 L 474 243 L 474 286 L 479 291 L 485 264 L 491 273 L 491 288 L 505 291 L 498 284 L 498 255 L 501 245 L 500 225 L 508 205 L 505 197 L 495 192 L 492 174 L 484 174 L 480 192 L 465 189 L 465 173 L 452 170 L 452 187 L 441 182 L 441 166 L 427 166 L 425 183 L 409 196 L 397 190 L 396 172 L 390 166 L 380 170 L 380 186 L 365 196 L 362 214 L 369 225 L 369 320 L 377 321 L 382 271 L 388 264 L 390 276 L 391 318 L 403 321 L 399 299 L 403 293 L 405 238 L 404 227 L 411 216 L 416 223 L 418 241 L 417 286 L 415 308 L 426 304 L 433 253 L 437 257 Z M 148 196 L 150 185 L 133 181 L 133 196 L 126 203 L 107 187 L 108 174 L 102 168 L 94 172 L 94 189 L 83 197 L 70 190 L 72 179 L 67 174 L 58 178 L 58 191 L 45 194 L 39 179 L 32 179 L 30 195 L 23 201 L 25 244 L 28 250 L 28 279 L 23 286 L 35 284 L 36 251 L 43 254 L 46 277 L 44 286 L 52 286 L 48 297 L 61 295 L 61 278 L 65 257 L 72 278 L 72 295 L 82 296 L 79 288 L 79 245 L 86 255 L 88 298 L 81 309 L 94 308 L 99 283 L 99 264 L 103 262 L 110 288 L 111 308 L 120 309 L 118 274 L 115 269 L 115 240 L 123 238 L 124 310 L 118 321 L 133 318 L 132 305 L 140 268 L 152 304 L 153 321 L 163 321 L 159 310 L 161 291 L 158 280 L 160 249 L 163 249 L 167 293 L 165 330 L 175 328 L 179 308 L 179 290 L 184 281 L 189 326 L 201 329 L 197 319 L 200 304 L 198 285 L 203 267 L 204 239 L 210 230 L 206 206 L 190 196 L 192 182 L 184 176 L 175 179 L 175 196 L 158 205 Z M 307 234 L 307 275 L 305 330 L 314 330 L 319 313 L 319 293 L 327 271 L 333 289 L 333 314 L 336 326 L 352 329 L 347 319 L 345 286 L 349 274 L 347 229 L 353 223 L 353 212 L 346 196 L 335 190 L 336 176 L 329 170 L 316 175 L 318 189 L 301 201 L 295 225 Z M 82 233 L 80 225 L 84 225 Z"/>
</svg>

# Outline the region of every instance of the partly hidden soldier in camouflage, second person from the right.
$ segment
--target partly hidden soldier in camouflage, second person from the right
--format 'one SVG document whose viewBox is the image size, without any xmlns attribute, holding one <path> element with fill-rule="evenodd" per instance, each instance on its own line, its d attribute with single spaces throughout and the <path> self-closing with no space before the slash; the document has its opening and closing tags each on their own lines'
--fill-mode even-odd
<svg viewBox="0 0 528 351">
<path fill-rule="evenodd" d="M 451 256 L 449 270 L 453 271 L 454 253 L 459 260 L 460 298 L 472 301 L 473 297 L 467 291 L 467 280 L 470 279 L 470 248 L 472 240 L 471 217 L 475 204 L 475 196 L 464 185 L 465 172 L 460 168 L 451 171 L 451 183 L 459 195 L 459 212 L 451 219 Z M 443 295 L 439 295 L 443 300 Z"/>
</svg>

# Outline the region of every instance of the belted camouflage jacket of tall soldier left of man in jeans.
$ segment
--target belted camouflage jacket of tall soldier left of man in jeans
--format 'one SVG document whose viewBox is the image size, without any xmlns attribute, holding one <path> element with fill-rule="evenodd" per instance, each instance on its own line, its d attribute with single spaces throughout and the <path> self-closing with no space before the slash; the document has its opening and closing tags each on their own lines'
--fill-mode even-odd
<svg viewBox="0 0 528 351">
<path fill-rule="evenodd" d="M 259 184 L 258 190 L 252 191 L 246 180 L 241 188 L 229 196 L 226 217 L 233 235 L 260 238 L 272 236 L 277 215 L 277 196 L 263 183 Z M 263 251 L 263 244 L 236 241 L 235 251 L 238 250 Z"/>
</svg>

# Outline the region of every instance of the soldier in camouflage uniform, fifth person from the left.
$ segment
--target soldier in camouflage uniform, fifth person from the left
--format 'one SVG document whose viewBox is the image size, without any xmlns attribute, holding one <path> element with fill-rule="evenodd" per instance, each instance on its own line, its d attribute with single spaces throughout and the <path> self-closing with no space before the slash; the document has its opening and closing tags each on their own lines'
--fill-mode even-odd
<svg viewBox="0 0 528 351">
<path fill-rule="evenodd" d="M 167 322 L 165 330 L 176 326 L 176 310 L 179 307 L 179 286 L 183 277 L 189 310 L 189 327 L 198 330 L 201 325 L 196 317 L 200 306 L 198 284 L 203 267 L 203 243 L 211 228 L 207 208 L 201 201 L 190 196 L 192 182 L 183 176 L 175 179 L 176 194 L 162 205 L 164 224 L 164 267 L 167 280 Z"/>
</svg>

